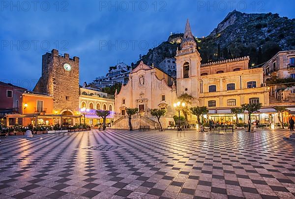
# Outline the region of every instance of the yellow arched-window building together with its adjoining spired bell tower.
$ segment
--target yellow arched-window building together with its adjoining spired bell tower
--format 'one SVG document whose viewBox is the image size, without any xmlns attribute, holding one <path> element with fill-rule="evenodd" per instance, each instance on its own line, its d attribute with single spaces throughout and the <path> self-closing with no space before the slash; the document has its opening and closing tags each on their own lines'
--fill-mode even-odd
<svg viewBox="0 0 295 199">
<path fill-rule="evenodd" d="M 208 119 L 218 123 L 234 123 L 231 108 L 244 103 L 262 103 L 260 114 L 252 120 L 269 121 L 268 90 L 264 84 L 262 68 L 248 69 L 249 57 L 240 57 L 201 64 L 201 56 L 187 21 L 181 49 L 177 49 L 177 97 L 184 93 L 192 95 L 192 106 L 207 106 Z M 239 116 L 247 121 L 246 114 Z M 267 118 L 267 119 L 265 119 Z M 263 120 L 263 121 L 262 121 Z M 190 123 L 195 122 L 192 116 Z"/>
</svg>

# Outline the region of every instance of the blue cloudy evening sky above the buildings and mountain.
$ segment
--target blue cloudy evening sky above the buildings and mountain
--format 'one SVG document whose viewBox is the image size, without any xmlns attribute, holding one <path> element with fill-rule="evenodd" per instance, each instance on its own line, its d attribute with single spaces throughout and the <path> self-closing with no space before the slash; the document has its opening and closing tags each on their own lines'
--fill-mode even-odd
<svg viewBox="0 0 295 199">
<path fill-rule="evenodd" d="M 58 49 L 80 57 L 80 82 L 105 75 L 119 61 L 183 32 L 207 36 L 228 12 L 279 13 L 295 18 L 290 0 L 36 0 L 0 2 L 0 81 L 29 89 L 41 75 L 42 54 Z"/>
</svg>

